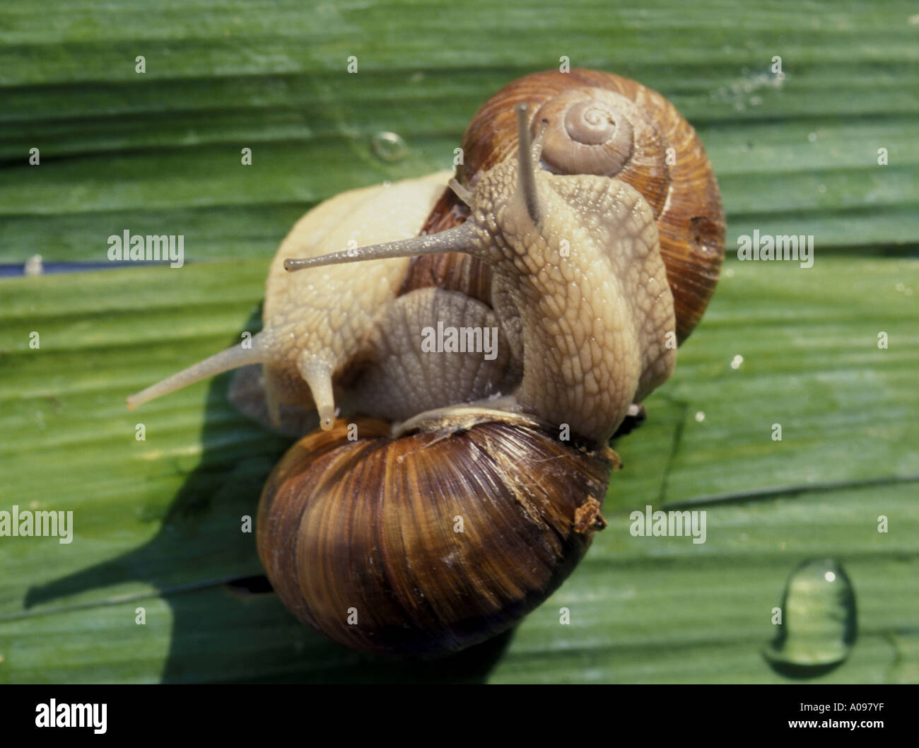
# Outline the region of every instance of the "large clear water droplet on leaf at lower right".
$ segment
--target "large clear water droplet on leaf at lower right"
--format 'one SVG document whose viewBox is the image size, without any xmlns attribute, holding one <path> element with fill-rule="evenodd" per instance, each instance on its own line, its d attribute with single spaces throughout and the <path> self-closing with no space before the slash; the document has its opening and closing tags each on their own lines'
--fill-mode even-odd
<svg viewBox="0 0 919 748">
<path fill-rule="evenodd" d="M 782 623 L 764 654 L 781 674 L 813 677 L 845 661 L 856 636 L 856 595 L 848 575 L 832 559 L 811 559 L 789 576 Z"/>
</svg>

